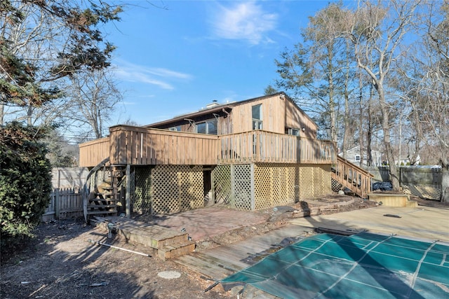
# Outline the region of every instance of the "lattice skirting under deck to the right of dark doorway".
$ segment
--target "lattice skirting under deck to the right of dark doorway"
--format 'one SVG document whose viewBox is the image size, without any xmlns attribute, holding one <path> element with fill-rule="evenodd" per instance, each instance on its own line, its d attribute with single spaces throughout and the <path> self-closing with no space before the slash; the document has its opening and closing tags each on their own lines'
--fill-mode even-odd
<svg viewBox="0 0 449 299">
<path fill-rule="evenodd" d="M 253 211 L 332 192 L 330 165 L 219 165 L 213 170 L 215 202 Z"/>
</svg>

